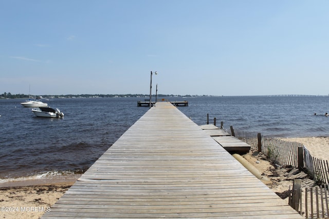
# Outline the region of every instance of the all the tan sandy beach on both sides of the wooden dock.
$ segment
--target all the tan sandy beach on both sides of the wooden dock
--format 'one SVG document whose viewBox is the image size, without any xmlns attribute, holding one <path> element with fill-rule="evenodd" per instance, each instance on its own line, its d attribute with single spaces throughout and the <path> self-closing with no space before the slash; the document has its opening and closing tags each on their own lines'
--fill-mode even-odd
<svg viewBox="0 0 329 219">
<path fill-rule="evenodd" d="M 329 158 L 329 137 L 281 139 L 300 142 L 313 156 L 323 160 Z M 262 153 L 251 151 L 244 157 L 270 179 L 267 186 L 287 201 L 286 191 L 289 186 L 293 186 L 294 177 L 296 177 L 293 171 L 273 166 Z M 304 187 L 312 187 L 313 181 L 309 180 L 306 175 L 303 177 Z M 77 179 L 78 177 L 0 184 L 0 218 L 40 218 Z"/>
</svg>

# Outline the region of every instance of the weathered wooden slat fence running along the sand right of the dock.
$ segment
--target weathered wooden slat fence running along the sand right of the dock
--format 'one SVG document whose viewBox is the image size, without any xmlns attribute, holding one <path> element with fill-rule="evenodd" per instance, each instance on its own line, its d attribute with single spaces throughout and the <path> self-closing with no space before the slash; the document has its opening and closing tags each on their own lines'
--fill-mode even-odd
<svg viewBox="0 0 329 219">
<path fill-rule="evenodd" d="M 232 134 L 230 130 L 228 133 Z M 258 136 L 240 129 L 234 129 L 235 137 L 258 150 Z M 262 135 L 262 152 L 275 164 L 298 167 L 298 148 L 303 148 L 303 170 L 315 181 L 316 187 L 304 188 L 300 194 L 298 212 L 305 218 L 329 218 L 329 165 L 328 161 L 321 160 L 310 154 L 307 148 L 297 142 L 287 142 L 276 137 Z M 292 193 L 292 191 L 290 191 Z"/>
</svg>

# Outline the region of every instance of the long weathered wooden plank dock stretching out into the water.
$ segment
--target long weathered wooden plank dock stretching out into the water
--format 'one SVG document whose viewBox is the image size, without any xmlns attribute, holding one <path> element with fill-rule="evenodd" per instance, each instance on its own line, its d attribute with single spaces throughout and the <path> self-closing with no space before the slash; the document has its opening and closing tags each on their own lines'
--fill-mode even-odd
<svg viewBox="0 0 329 219">
<path fill-rule="evenodd" d="M 145 113 L 42 218 L 303 218 L 170 103 Z"/>
</svg>

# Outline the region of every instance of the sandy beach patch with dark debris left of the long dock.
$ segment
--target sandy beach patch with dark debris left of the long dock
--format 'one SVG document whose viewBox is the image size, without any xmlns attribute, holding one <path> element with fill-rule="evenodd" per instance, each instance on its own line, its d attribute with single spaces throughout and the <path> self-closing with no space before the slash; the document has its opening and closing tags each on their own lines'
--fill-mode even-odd
<svg viewBox="0 0 329 219">
<path fill-rule="evenodd" d="M 0 184 L 0 218 L 40 218 L 78 176 Z"/>
</svg>

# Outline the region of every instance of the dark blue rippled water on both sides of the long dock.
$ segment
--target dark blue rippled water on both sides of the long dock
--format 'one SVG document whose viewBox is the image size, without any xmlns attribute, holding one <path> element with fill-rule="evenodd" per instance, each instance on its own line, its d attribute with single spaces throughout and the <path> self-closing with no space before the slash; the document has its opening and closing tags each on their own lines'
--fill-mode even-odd
<svg viewBox="0 0 329 219">
<path fill-rule="evenodd" d="M 143 99 L 143 98 L 142 98 Z M 44 101 L 64 118 L 35 117 L 22 99 L 0 100 L 0 183 L 8 178 L 85 171 L 148 107 L 134 97 L 72 98 Z M 169 98 L 174 101 L 175 98 Z M 216 117 L 224 127 L 264 135 L 329 136 L 327 96 L 191 97 L 178 109 L 196 124 Z M 314 115 L 317 113 L 318 115 Z"/>
</svg>

